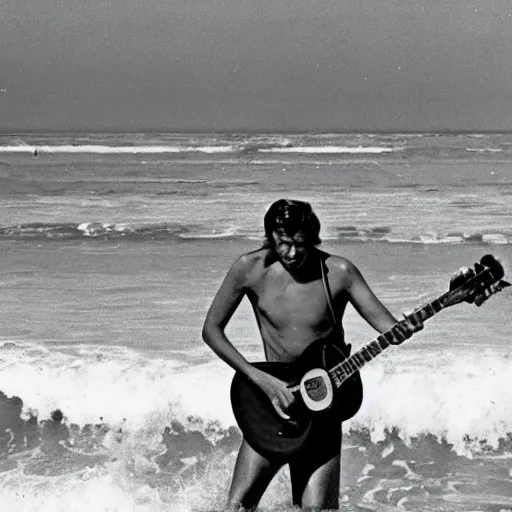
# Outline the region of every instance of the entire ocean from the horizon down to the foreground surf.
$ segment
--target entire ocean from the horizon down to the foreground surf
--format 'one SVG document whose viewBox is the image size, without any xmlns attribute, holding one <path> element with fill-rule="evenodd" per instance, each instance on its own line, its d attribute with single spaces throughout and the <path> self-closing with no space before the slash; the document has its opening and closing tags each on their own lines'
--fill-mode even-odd
<svg viewBox="0 0 512 512">
<path fill-rule="evenodd" d="M 1 136 L 2 510 L 222 510 L 233 372 L 200 331 L 266 208 L 310 201 L 399 315 L 484 254 L 512 268 L 511 159 L 507 134 Z M 342 510 L 512 510 L 511 305 L 444 310 L 362 370 Z M 245 301 L 228 333 L 263 358 Z M 286 468 L 261 507 L 292 509 Z"/>
</svg>

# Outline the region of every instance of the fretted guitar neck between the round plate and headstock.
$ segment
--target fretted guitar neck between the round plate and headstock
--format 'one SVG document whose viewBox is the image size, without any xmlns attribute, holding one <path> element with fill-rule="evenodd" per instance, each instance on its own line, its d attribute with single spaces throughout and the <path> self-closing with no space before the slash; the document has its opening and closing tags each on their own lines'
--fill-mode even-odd
<svg viewBox="0 0 512 512">
<path fill-rule="evenodd" d="M 436 313 L 439 313 L 446 307 L 444 299 L 450 295 L 450 292 L 446 292 L 439 296 L 437 299 L 425 304 L 421 308 L 417 309 L 412 313 L 413 317 L 421 319 L 423 322 L 432 318 Z M 379 354 L 382 354 L 389 346 L 397 344 L 398 340 L 395 338 L 393 329 L 382 333 L 380 336 L 375 338 L 373 341 L 365 345 L 362 349 L 358 350 L 350 357 L 345 359 L 342 363 L 334 366 L 329 370 L 329 375 L 332 378 L 333 383 L 338 388 L 340 387 L 349 377 L 359 371 L 366 363 L 369 363 L 375 359 Z"/>
</svg>

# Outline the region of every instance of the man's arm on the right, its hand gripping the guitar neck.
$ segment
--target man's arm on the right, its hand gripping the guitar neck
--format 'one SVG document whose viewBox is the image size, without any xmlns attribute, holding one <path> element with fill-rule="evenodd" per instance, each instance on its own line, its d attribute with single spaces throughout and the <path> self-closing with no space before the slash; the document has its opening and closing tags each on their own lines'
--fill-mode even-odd
<svg viewBox="0 0 512 512">
<path fill-rule="evenodd" d="M 394 327 L 396 337 L 405 340 L 423 329 L 423 323 L 416 317 L 408 317 L 398 322 L 375 296 L 355 265 L 347 262 L 345 272 L 351 304 L 376 331 L 383 333 Z"/>
</svg>

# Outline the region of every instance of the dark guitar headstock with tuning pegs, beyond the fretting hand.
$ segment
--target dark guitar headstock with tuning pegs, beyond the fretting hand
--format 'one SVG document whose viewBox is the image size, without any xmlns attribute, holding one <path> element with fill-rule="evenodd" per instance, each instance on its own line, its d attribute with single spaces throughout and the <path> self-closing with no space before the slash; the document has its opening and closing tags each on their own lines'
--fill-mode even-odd
<svg viewBox="0 0 512 512">
<path fill-rule="evenodd" d="M 469 302 L 481 306 L 489 297 L 510 286 L 502 280 L 504 275 L 501 263 L 491 254 L 486 254 L 474 268 L 463 268 L 452 277 L 443 305 L 448 307 Z"/>
</svg>

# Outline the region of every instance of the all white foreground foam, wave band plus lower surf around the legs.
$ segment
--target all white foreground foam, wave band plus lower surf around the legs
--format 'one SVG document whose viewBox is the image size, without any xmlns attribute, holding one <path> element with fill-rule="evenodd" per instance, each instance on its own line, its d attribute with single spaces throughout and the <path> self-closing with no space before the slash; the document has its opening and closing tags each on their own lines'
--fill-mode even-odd
<svg viewBox="0 0 512 512">
<path fill-rule="evenodd" d="M 431 360 L 412 351 L 401 354 L 384 356 L 363 369 L 363 407 L 347 422 L 345 432 L 363 427 L 374 442 L 384 439 L 385 431 L 393 427 L 406 440 L 431 433 L 446 438 L 459 453 L 471 455 L 468 437 L 478 449 L 478 439 L 496 444 L 512 431 L 510 358 L 490 349 L 451 350 L 432 354 Z M 114 440 L 114 429 L 107 434 L 103 446 L 109 459 L 104 465 L 53 477 L 23 474 L 19 469 L 4 473 L 0 477 L 1 510 L 191 512 L 222 508 L 234 464 L 232 455 L 217 456 L 207 471 L 171 490 L 176 479 L 162 474 L 147 454 L 161 452 L 161 432 L 171 421 L 200 430 L 206 437 L 215 434 L 212 424 L 219 429 L 234 425 L 228 399 L 233 372 L 227 365 L 218 360 L 189 365 L 177 363 L 171 354 L 149 358 L 116 347 L 84 345 L 61 352 L 23 343 L 5 346 L 1 360 L 0 389 L 21 395 L 25 407 L 37 408 L 40 417 L 47 417 L 58 406 L 69 421 L 84 424 L 102 416 L 110 426 L 122 424 L 125 432 L 121 444 Z M 381 459 L 391 459 L 392 453 L 393 445 L 386 445 Z M 278 475 L 262 505 L 291 511 L 286 505 L 288 489 L 287 474 Z"/>
</svg>

